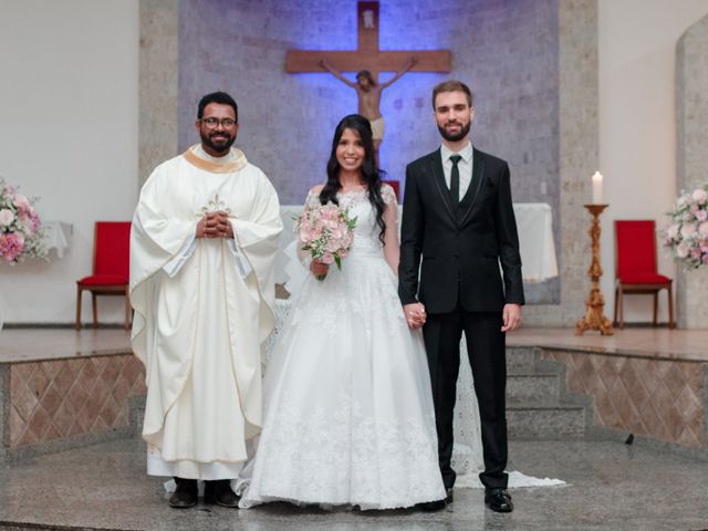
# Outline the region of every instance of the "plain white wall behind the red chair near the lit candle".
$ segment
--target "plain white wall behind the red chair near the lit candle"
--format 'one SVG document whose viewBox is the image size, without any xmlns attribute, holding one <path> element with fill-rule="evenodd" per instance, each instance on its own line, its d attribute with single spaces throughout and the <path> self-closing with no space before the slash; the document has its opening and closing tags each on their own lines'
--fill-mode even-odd
<svg viewBox="0 0 708 531">
<path fill-rule="evenodd" d="M 602 215 L 601 240 L 607 315 L 614 302 L 613 220 L 654 219 L 657 229 L 663 228 L 667 225 L 665 212 L 680 191 L 676 174 L 676 46 L 681 34 L 707 13 L 707 0 L 598 1 L 597 169 L 605 177 L 604 200 L 610 204 Z M 589 178 L 594 171 L 590 169 Z M 657 254 L 659 272 L 675 279 L 676 284 L 678 269 L 673 258 L 662 248 Z M 650 321 L 650 298 L 625 296 L 624 313 L 626 321 Z M 667 320 L 666 295 L 662 294 L 659 321 Z"/>
</svg>

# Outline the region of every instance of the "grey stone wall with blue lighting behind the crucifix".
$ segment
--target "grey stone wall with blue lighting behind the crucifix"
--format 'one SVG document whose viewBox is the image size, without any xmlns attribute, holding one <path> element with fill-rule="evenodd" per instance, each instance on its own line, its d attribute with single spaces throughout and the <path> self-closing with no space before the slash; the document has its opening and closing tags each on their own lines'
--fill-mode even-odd
<svg viewBox="0 0 708 531">
<path fill-rule="evenodd" d="M 476 94 L 472 142 L 509 160 L 514 200 L 558 212 L 558 0 L 382 0 L 379 25 L 382 49 L 449 49 L 454 67 L 449 76 L 408 73 L 384 91 L 389 176 L 403 180 L 407 163 L 439 146 L 430 91 L 457 77 Z M 240 106 L 248 158 L 281 202 L 302 202 L 323 180 L 332 133 L 356 111 L 356 94 L 326 73 L 287 74 L 285 51 L 354 50 L 356 1 L 181 0 L 179 42 L 181 147 L 197 142 L 199 97 L 226 90 Z M 545 302 L 558 291 L 554 282 L 530 288 Z"/>
</svg>

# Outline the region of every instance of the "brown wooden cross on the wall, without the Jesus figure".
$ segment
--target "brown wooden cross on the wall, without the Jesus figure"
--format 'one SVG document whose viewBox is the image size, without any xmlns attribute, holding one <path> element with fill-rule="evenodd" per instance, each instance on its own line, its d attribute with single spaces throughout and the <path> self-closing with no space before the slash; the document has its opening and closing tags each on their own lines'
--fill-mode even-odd
<svg viewBox="0 0 708 531">
<path fill-rule="evenodd" d="M 449 72 L 451 53 L 449 50 L 381 51 L 378 49 L 378 2 L 356 2 L 356 25 L 358 46 L 355 51 L 305 51 L 288 50 L 285 72 L 326 72 L 320 64 L 326 60 L 340 72 L 368 70 L 378 82 L 379 72 L 397 72 L 415 56 L 417 63 L 410 72 Z"/>
</svg>

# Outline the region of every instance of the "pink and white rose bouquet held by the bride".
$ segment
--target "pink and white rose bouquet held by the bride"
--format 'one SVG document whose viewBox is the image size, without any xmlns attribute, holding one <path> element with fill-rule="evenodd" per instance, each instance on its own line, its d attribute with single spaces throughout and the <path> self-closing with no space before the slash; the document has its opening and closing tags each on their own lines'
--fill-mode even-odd
<svg viewBox="0 0 708 531">
<path fill-rule="evenodd" d="M 342 259 L 346 258 L 354 242 L 356 218 L 350 218 L 346 209 L 332 202 L 312 209 L 305 209 L 295 223 L 298 241 L 303 251 L 310 251 L 313 259 L 323 263 L 336 263 L 342 269 Z M 321 274 L 317 280 L 324 280 Z"/>
</svg>

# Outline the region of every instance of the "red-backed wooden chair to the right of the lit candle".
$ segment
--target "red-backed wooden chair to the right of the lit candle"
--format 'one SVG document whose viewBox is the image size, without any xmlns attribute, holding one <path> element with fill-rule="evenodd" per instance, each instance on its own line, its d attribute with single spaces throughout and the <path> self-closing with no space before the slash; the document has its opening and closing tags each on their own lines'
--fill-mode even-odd
<svg viewBox="0 0 708 531">
<path fill-rule="evenodd" d="M 622 299 L 625 293 L 654 295 L 654 326 L 658 292 L 668 293 L 668 327 L 674 327 L 671 279 L 656 271 L 654 220 L 615 220 L 615 325 L 624 327 Z M 620 321 L 617 321 L 617 313 Z"/>
</svg>

